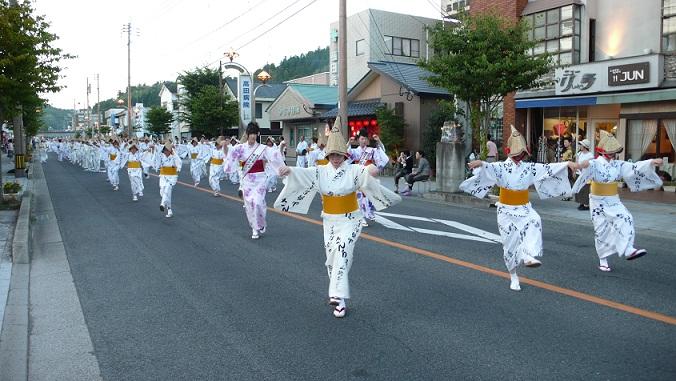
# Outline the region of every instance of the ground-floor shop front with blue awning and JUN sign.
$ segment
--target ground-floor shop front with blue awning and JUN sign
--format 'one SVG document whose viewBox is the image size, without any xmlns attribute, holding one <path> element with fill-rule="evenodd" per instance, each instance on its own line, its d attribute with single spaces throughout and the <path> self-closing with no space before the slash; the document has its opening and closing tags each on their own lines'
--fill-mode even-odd
<svg viewBox="0 0 676 381">
<path fill-rule="evenodd" d="M 563 140 L 595 145 L 605 130 L 624 144 L 622 158 L 662 157 L 673 168 L 676 88 L 662 87 L 663 77 L 659 54 L 556 69 L 553 91 L 517 95 L 534 157 L 557 161 Z"/>
</svg>

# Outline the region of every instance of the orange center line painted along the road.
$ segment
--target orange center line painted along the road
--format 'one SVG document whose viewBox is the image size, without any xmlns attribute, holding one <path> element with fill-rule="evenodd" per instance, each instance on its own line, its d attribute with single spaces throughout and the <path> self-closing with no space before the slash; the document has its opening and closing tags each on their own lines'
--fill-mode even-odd
<svg viewBox="0 0 676 381">
<path fill-rule="evenodd" d="M 156 176 L 156 175 L 153 175 L 153 176 Z M 195 188 L 192 184 L 184 183 L 182 181 L 179 181 L 178 183 L 181 184 L 181 185 L 184 185 L 186 187 L 192 188 L 192 189 L 196 189 L 196 190 L 206 192 L 206 193 L 211 193 L 211 191 L 208 190 L 208 189 Z M 225 195 L 225 194 L 220 194 L 220 196 L 223 197 L 223 198 L 226 198 L 228 200 L 242 202 L 242 199 L 239 198 L 239 197 L 234 197 L 234 196 Z M 268 207 L 267 209 L 271 212 L 274 212 L 274 213 L 277 213 L 277 214 L 280 214 L 280 215 L 283 215 L 283 216 L 291 217 L 291 218 L 294 218 L 294 219 L 299 220 L 299 221 L 304 221 L 304 222 L 308 222 L 308 223 L 319 225 L 319 226 L 323 225 L 322 221 L 316 220 L 314 218 L 309 218 L 309 217 L 301 216 L 301 215 L 298 215 L 298 214 L 284 212 L 284 211 L 277 210 L 277 209 L 274 209 L 274 208 L 271 208 L 271 207 Z M 489 275 L 497 276 L 497 277 L 500 277 L 500 278 L 510 279 L 509 273 L 507 273 L 505 271 L 494 270 L 494 269 L 491 269 L 489 267 L 477 265 L 475 263 L 463 261 L 463 260 L 456 259 L 456 258 L 447 257 L 443 254 L 435 253 L 433 251 L 421 249 L 421 248 L 414 247 L 414 246 L 409 246 L 409 245 L 399 243 L 399 242 L 390 241 L 390 240 L 387 240 L 385 238 L 376 237 L 374 235 L 367 234 L 367 233 L 362 233 L 361 237 L 363 237 L 364 239 L 367 239 L 369 241 L 376 242 L 376 243 L 379 243 L 379 244 L 382 244 L 382 245 L 385 245 L 385 246 L 393 247 L 393 248 L 400 249 L 400 250 L 403 250 L 403 251 L 408 251 L 410 253 L 422 255 L 422 256 L 425 256 L 425 257 L 428 257 L 428 258 L 433 258 L 433 259 L 436 259 L 436 260 L 444 261 L 444 262 L 451 263 L 451 264 L 454 264 L 456 266 L 464 267 L 464 268 L 467 268 L 467 269 L 476 270 L 476 271 L 482 272 L 484 274 L 489 274 Z M 604 298 L 594 296 L 594 295 L 591 295 L 591 294 L 587 294 L 587 293 L 584 293 L 584 292 L 575 291 L 575 290 L 571 290 L 571 289 L 568 289 L 568 288 L 556 286 L 556 285 L 549 284 L 549 283 L 542 282 L 542 281 L 535 280 L 535 279 L 530 279 L 530 278 L 525 278 L 525 277 L 519 276 L 519 280 L 521 281 L 521 283 L 525 283 L 525 284 L 531 285 L 533 287 L 538 287 L 538 288 L 541 288 L 543 290 L 551 291 L 551 292 L 561 294 L 561 295 L 566 295 L 566 296 L 569 296 L 571 298 L 584 300 L 584 301 L 587 301 L 587 302 L 590 302 L 590 303 L 594 303 L 594 304 L 598 304 L 598 305 L 601 305 L 601 306 L 612 308 L 612 309 L 615 309 L 615 310 L 618 310 L 618 311 L 623 311 L 623 312 L 626 312 L 626 313 L 638 315 L 638 316 L 641 316 L 641 317 L 644 317 L 644 318 L 647 318 L 647 319 L 651 319 L 651 320 L 655 320 L 655 321 L 659 321 L 659 322 L 662 322 L 662 323 L 676 325 L 676 317 L 673 317 L 673 316 L 661 314 L 661 313 L 658 313 L 658 312 L 643 310 L 643 309 L 640 309 L 640 308 L 637 308 L 637 307 L 633 307 L 633 306 L 629 306 L 629 305 L 622 304 L 622 303 L 619 303 L 619 302 L 615 302 L 615 301 L 612 301 L 612 300 L 604 299 Z"/>
</svg>

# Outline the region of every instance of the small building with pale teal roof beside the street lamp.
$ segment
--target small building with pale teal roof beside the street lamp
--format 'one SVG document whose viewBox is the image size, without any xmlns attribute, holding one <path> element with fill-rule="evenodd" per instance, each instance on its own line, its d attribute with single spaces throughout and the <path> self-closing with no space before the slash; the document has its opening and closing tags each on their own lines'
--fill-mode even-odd
<svg viewBox="0 0 676 381">
<path fill-rule="evenodd" d="M 311 143 L 313 137 L 323 135 L 325 122 L 321 115 L 334 108 L 337 99 L 335 86 L 291 83 L 270 105 L 270 123 L 279 123 L 279 131 L 289 147 L 287 156 L 296 156 L 295 148 L 301 137 Z"/>
</svg>

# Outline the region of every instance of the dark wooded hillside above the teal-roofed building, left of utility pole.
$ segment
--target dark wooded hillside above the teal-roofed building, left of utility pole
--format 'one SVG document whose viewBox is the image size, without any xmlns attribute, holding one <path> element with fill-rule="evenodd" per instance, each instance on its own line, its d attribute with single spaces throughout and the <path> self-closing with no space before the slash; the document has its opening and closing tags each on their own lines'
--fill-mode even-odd
<svg viewBox="0 0 676 381">
<path fill-rule="evenodd" d="M 256 70 L 254 74 L 260 72 Z M 317 48 L 299 56 L 284 57 L 279 66 L 268 64 L 263 69 L 273 80 L 282 83 L 291 79 L 329 71 L 329 48 Z M 255 75 L 254 75 L 255 76 Z"/>
</svg>

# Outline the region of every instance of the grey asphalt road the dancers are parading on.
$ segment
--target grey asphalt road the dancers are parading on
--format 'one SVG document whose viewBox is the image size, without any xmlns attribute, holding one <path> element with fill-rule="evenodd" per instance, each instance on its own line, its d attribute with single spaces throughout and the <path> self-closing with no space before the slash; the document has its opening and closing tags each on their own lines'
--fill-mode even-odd
<svg viewBox="0 0 676 381">
<path fill-rule="evenodd" d="M 650 254 L 601 273 L 588 227 L 543 219 L 544 265 L 521 272 L 540 283 L 513 292 L 501 246 L 448 222 L 497 234 L 495 209 L 407 198 L 385 215 L 406 230 L 364 230 L 339 320 L 318 224 L 268 212 L 252 241 L 231 198 L 178 185 L 167 219 L 156 177 L 134 203 L 125 171 L 113 192 L 44 166 L 106 380 L 676 379 L 676 237 L 639 234 Z"/>
</svg>

